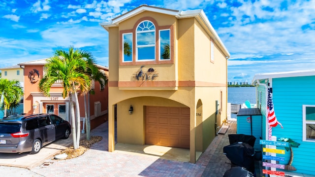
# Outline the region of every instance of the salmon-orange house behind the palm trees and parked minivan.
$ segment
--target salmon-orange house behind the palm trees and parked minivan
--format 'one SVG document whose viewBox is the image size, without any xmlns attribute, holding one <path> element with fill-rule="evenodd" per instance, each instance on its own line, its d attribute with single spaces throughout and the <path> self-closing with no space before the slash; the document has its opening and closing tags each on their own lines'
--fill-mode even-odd
<svg viewBox="0 0 315 177">
<path fill-rule="evenodd" d="M 24 113 L 52 113 L 59 115 L 71 123 L 69 97 L 63 99 L 63 86 L 61 82 L 56 82 L 50 89 L 50 97 L 45 97 L 39 91 L 39 80 L 43 78 L 44 65 L 47 59 L 29 61 L 18 64 L 24 69 Z M 108 75 L 108 68 L 98 66 Z M 108 108 L 108 87 L 100 88 L 98 82 L 94 82 L 92 89 L 95 94 L 90 94 L 90 119 L 91 129 L 104 123 L 102 115 L 107 114 Z M 84 97 L 78 93 L 81 121 L 85 118 Z M 74 97 L 73 97 L 74 98 Z M 74 101 L 74 100 L 73 100 Z M 81 122 L 82 128 L 82 122 Z"/>
</svg>

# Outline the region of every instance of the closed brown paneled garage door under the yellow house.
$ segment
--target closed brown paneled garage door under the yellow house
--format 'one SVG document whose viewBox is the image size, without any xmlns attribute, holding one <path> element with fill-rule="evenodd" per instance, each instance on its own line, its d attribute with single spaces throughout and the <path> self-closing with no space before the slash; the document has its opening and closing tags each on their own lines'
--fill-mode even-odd
<svg viewBox="0 0 315 177">
<path fill-rule="evenodd" d="M 146 106 L 146 144 L 189 148 L 189 107 Z"/>
</svg>

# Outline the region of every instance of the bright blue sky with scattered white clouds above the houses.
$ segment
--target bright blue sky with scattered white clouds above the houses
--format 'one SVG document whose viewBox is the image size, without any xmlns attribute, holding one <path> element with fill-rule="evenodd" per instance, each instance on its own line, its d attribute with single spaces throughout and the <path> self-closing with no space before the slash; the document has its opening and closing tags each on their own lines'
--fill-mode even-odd
<svg viewBox="0 0 315 177">
<path fill-rule="evenodd" d="M 228 81 L 315 69 L 315 0 L 1 0 L 0 68 L 70 45 L 108 66 L 108 33 L 99 23 L 141 4 L 203 9 L 231 54 Z"/>
</svg>

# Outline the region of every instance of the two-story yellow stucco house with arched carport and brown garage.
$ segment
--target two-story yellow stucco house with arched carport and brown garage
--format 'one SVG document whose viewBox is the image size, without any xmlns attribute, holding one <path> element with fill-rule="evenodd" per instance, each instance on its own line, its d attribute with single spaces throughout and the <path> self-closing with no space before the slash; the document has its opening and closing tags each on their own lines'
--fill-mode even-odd
<svg viewBox="0 0 315 177">
<path fill-rule="evenodd" d="M 204 11 L 142 5 L 100 25 L 109 33 L 109 151 L 115 141 L 180 147 L 195 163 L 227 107 L 230 54 Z"/>
</svg>

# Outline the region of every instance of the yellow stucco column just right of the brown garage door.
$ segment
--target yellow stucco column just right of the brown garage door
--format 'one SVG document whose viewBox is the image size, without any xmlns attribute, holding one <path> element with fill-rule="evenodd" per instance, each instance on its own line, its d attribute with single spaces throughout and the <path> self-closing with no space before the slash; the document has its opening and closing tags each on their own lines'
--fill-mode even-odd
<svg viewBox="0 0 315 177">
<path fill-rule="evenodd" d="M 196 111 L 195 106 L 190 106 L 190 163 L 196 163 L 196 143 L 195 143 L 195 134 L 196 134 Z"/>
</svg>

